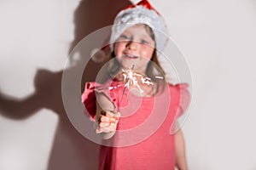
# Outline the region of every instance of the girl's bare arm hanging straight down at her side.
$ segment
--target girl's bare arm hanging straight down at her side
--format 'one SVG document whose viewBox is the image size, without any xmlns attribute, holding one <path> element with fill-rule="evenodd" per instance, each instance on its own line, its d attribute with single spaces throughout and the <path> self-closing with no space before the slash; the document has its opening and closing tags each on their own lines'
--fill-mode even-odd
<svg viewBox="0 0 256 170">
<path fill-rule="evenodd" d="M 181 129 L 175 133 L 176 165 L 179 170 L 188 170 L 185 143 Z"/>
</svg>

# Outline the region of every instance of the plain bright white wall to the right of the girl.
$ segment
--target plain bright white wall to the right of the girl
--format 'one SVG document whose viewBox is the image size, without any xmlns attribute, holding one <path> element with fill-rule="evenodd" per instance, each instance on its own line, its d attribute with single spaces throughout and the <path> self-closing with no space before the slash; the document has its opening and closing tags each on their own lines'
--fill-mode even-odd
<svg viewBox="0 0 256 170">
<path fill-rule="evenodd" d="M 255 2 L 158 5 L 189 61 L 194 82 L 183 127 L 190 169 L 256 169 Z"/>
</svg>

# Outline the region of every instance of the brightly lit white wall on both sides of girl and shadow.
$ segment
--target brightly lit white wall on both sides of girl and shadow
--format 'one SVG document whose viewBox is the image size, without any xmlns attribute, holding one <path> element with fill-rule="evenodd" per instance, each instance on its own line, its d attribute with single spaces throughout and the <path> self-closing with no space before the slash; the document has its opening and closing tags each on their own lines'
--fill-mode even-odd
<svg viewBox="0 0 256 170">
<path fill-rule="evenodd" d="M 183 126 L 189 169 L 255 170 L 256 2 L 150 3 L 166 19 L 193 78 L 192 105 Z M 0 2 L 3 94 L 25 99 L 35 91 L 38 68 L 63 69 L 78 4 L 78 0 Z M 22 120 L 0 114 L 0 169 L 46 169 L 57 124 L 55 112 L 44 108 Z"/>
</svg>

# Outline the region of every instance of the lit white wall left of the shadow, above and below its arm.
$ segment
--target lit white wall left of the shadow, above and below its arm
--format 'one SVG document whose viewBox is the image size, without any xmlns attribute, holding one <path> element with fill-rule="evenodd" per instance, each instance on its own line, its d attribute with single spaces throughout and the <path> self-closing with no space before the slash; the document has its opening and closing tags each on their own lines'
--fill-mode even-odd
<svg viewBox="0 0 256 170">
<path fill-rule="evenodd" d="M 24 99 L 38 69 L 60 71 L 73 40 L 78 1 L 0 2 L 0 89 Z M 20 111 L 22 114 L 23 111 Z M 0 114 L 0 169 L 46 169 L 58 116 L 42 109 L 26 119 Z"/>
</svg>

